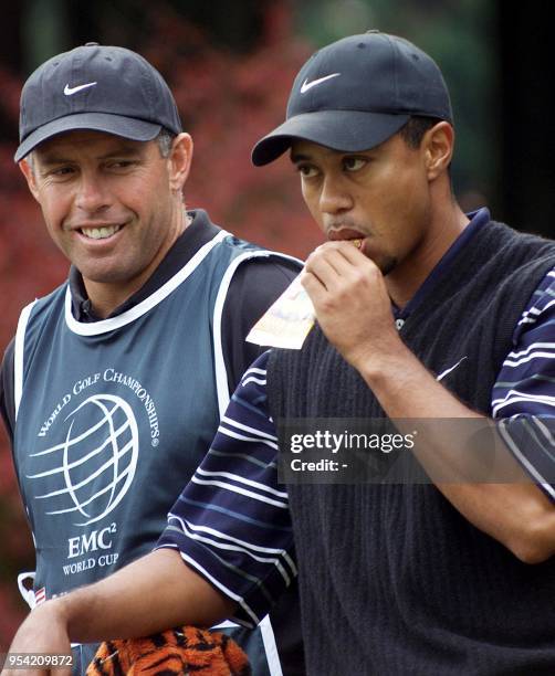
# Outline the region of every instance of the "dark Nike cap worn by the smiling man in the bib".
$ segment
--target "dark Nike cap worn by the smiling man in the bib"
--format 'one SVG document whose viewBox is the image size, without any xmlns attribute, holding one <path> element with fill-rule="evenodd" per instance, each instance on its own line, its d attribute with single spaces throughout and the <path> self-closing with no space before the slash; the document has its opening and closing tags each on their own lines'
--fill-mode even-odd
<svg viewBox="0 0 555 676">
<path fill-rule="evenodd" d="M 181 131 L 176 102 L 158 71 L 130 50 L 88 42 L 53 56 L 25 82 L 14 159 L 64 131 L 93 129 L 147 141 L 163 127 Z"/>
</svg>

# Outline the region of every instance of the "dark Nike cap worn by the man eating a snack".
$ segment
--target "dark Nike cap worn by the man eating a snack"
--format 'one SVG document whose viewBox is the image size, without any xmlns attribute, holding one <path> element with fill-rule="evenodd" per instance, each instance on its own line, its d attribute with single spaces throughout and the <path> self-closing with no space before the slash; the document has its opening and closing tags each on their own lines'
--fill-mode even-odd
<svg viewBox="0 0 555 676">
<path fill-rule="evenodd" d="M 334 150 L 369 150 L 411 115 L 453 115 L 437 63 L 408 40 L 379 31 L 350 35 L 317 51 L 293 83 L 285 122 L 252 150 L 268 165 L 295 139 Z"/>
</svg>

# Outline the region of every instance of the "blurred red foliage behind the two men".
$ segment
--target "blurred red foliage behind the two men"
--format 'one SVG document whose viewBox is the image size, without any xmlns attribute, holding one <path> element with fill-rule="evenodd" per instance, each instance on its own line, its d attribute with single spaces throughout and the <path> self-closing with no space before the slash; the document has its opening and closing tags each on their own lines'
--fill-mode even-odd
<svg viewBox="0 0 555 676">
<path fill-rule="evenodd" d="M 293 36 L 286 3 L 268 12 L 261 46 L 238 56 L 219 50 L 193 25 L 157 3 L 150 38 L 139 51 L 167 77 L 195 139 L 186 186 L 188 207 L 209 210 L 227 230 L 259 244 L 304 256 L 321 235 L 304 209 L 287 159 L 255 169 L 253 144 L 284 117 L 291 83 L 310 53 Z M 101 36 L 102 38 L 102 36 Z M 0 70 L 6 116 L 18 115 L 21 83 Z M 61 283 L 67 262 L 56 251 L 12 157 L 0 146 L 0 347 L 14 332 L 21 308 Z M 25 612 L 14 577 L 32 566 L 29 529 L 18 497 L 8 444 L 0 445 L 0 652 Z"/>
</svg>

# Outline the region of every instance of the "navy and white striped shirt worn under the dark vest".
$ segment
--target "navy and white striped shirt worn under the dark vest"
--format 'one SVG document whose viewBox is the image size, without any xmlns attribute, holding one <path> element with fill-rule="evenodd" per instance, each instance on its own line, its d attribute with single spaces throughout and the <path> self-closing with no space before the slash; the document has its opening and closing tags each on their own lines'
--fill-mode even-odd
<svg viewBox="0 0 555 676">
<path fill-rule="evenodd" d="M 464 245 L 489 220 L 477 212 L 397 320 L 410 314 Z M 426 287 L 426 288 L 425 288 Z M 399 324 L 398 324 L 399 326 Z M 549 272 L 515 327 L 492 391 L 491 415 L 507 447 L 555 500 L 549 482 L 555 442 L 555 271 Z M 296 574 L 287 495 L 278 483 L 275 426 L 268 410 L 265 352 L 244 373 L 212 446 L 168 516 L 158 547 L 179 549 L 184 560 L 238 602 L 235 621 L 252 626 Z"/>
</svg>

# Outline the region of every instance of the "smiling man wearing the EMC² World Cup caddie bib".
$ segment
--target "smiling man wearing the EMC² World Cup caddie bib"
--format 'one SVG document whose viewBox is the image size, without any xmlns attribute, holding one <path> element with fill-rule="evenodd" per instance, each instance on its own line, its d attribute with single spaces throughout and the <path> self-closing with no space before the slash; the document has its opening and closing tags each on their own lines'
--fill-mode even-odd
<svg viewBox="0 0 555 676">
<path fill-rule="evenodd" d="M 0 379 L 34 606 L 153 548 L 260 351 L 249 328 L 300 265 L 185 210 L 191 137 L 129 50 L 90 43 L 42 64 L 22 92 L 20 141 L 15 161 L 72 263 L 23 310 Z M 263 656 L 268 621 L 262 632 Z"/>
</svg>

